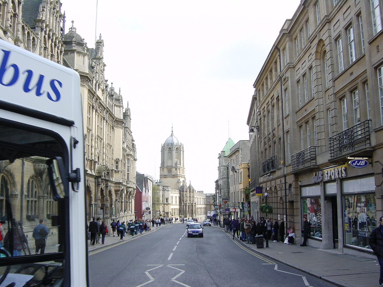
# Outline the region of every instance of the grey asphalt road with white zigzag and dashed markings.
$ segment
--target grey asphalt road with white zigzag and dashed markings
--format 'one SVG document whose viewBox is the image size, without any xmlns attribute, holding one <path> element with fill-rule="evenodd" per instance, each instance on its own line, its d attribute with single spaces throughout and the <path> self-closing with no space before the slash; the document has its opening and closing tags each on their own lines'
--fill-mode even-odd
<svg viewBox="0 0 383 287">
<path fill-rule="evenodd" d="M 187 238 L 185 225 L 169 224 L 89 257 L 93 287 L 332 287 L 273 262 L 213 227 Z M 315 264 L 315 258 L 308 264 Z"/>
</svg>

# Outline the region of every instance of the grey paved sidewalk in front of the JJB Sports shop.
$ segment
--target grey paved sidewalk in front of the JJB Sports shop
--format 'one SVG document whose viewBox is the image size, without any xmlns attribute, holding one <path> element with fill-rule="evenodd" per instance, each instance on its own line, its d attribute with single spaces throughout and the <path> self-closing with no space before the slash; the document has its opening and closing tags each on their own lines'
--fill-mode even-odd
<svg viewBox="0 0 383 287">
<path fill-rule="evenodd" d="M 223 230 L 218 226 L 211 226 Z M 271 240 L 268 241 L 269 248 L 257 248 L 255 244 L 246 244 L 239 240 L 238 242 L 274 261 L 341 287 L 378 286 L 380 267 L 375 259 L 338 253 L 337 249 L 324 250 L 310 246 L 287 245 Z"/>
</svg>

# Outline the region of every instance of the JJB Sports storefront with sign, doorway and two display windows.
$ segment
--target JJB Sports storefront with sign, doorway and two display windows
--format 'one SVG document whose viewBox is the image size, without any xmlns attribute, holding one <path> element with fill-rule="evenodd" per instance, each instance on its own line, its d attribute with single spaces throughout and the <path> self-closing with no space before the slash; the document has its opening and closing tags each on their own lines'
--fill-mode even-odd
<svg viewBox="0 0 383 287">
<path fill-rule="evenodd" d="M 367 160 L 307 174 L 300 195 L 301 219 L 306 216 L 310 223 L 309 245 L 371 253 L 368 236 L 381 215 L 376 214 L 375 178 Z"/>
</svg>

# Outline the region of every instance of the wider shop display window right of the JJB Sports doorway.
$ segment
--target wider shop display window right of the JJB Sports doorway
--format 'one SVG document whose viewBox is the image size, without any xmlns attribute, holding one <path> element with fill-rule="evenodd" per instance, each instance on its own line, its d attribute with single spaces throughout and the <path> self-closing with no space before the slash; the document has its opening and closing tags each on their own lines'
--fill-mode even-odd
<svg viewBox="0 0 383 287">
<path fill-rule="evenodd" d="M 368 237 L 379 224 L 375 194 L 345 195 L 343 206 L 344 243 L 370 249 Z"/>
</svg>

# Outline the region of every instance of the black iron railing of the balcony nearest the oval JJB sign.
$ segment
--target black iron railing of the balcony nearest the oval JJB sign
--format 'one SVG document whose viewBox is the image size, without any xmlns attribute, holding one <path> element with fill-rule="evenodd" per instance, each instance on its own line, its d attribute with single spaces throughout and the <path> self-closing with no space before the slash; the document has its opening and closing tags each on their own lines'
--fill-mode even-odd
<svg viewBox="0 0 383 287">
<path fill-rule="evenodd" d="M 359 148 L 370 146 L 370 121 L 366 120 L 329 137 L 330 158 L 339 157 Z"/>
</svg>

